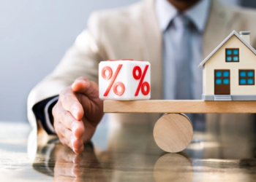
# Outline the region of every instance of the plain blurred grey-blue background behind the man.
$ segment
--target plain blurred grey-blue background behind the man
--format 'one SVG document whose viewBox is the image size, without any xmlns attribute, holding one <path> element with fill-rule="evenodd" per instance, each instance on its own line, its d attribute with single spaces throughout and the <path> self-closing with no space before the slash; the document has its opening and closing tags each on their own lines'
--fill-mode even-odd
<svg viewBox="0 0 256 182">
<path fill-rule="evenodd" d="M 136 1 L 0 0 L 0 122 L 27 122 L 30 90 L 53 71 L 91 12 Z M 222 2 L 256 7 L 254 0 Z"/>
</svg>

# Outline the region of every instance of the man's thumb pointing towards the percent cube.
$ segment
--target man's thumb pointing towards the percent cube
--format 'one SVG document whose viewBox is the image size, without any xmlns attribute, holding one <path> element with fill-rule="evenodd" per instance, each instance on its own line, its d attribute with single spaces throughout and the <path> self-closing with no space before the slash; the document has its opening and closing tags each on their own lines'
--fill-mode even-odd
<svg viewBox="0 0 256 182">
<path fill-rule="evenodd" d="M 99 98 L 98 85 L 85 77 L 75 79 L 75 82 L 72 84 L 72 90 L 74 90 L 74 92 L 83 93 L 89 98 Z"/>
</svg>

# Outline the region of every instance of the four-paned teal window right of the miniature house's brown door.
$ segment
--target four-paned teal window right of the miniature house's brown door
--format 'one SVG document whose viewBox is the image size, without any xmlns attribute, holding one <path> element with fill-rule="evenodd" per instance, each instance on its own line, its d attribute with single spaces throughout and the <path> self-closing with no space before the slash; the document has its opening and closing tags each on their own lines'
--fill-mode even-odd
<svg viewBox="0 0 256 182">
<path fill-rule="evenodd" d="M 255 70 L 239 70 L 239 85 L 255 85 Z"/>
</svg>

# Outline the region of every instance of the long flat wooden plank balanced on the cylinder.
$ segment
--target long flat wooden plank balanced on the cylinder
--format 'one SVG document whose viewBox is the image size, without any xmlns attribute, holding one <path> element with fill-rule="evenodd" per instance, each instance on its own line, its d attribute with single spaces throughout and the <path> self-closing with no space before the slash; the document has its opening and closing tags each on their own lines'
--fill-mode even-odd
<svg viewBox="0 0 256 182">
<path fill-rule="evenodd" d="M 256 101 L 105 100 L 105 113 L 256 113 Z"/>
</svg>

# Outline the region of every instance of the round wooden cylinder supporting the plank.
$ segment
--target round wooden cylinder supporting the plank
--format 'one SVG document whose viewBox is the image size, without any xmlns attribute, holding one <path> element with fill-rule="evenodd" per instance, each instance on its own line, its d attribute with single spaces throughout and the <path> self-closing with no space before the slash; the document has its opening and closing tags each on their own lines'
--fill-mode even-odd
<svg viewBox="0 0 256 182">
<path fill-rule="evenodd" d="M 165 114 L 154 125 L 154 141 L 160 149 L 176 153 L 189 146 L 193 127 L 184 114 Z"/>
</svg>

